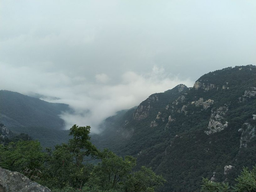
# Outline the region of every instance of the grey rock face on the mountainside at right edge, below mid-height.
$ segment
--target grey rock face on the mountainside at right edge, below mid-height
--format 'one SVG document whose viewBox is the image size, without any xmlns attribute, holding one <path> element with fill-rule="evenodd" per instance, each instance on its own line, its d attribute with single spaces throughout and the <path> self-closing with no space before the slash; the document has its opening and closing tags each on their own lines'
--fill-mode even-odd
<svg viewBox="0 0 256 192">
<path fill-rule="evenodd" d="M 242 128 L 240 128 L 238 131 L 242 132 L 240 138 L 240 148 L 246 148 L 248 142 L 250 142 L 252 138 L 256 136 L 256 128 L 255 126 L 252 126 L 250 123 L 244 123 Z"/>
</svg>

